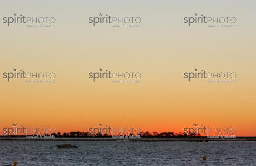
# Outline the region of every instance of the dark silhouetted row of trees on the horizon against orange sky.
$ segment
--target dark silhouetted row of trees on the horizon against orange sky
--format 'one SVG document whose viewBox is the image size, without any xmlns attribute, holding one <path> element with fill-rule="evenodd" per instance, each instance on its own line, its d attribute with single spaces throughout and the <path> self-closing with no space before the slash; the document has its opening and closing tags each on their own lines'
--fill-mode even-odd
<svg viewBox="0 0 256 166">
<path fill-rule="evenodd" d="M 52 134 L 55 135 L 56 137 L 94 137 L 93 134 L 89 134 L 89 132 L 64 132 L 63 134 L 61 134 L 61 132 L 58 132 L 57 134 Z M 121 135 L 119 133 L 119 135 Z M 125 135 L 125 134 L 123 134 Z M 175 132 L 141 132 L 139 134 L 141 137 L 189 137 L 189 134 L 184 134 L 184 133 L 175 133 Z M 96 137 L 112 137 L 112 135 L 108 135 L 108 134 L 96 134 Z M 132 136 L 132 134 L 130 134 L 130 136 Z M 200 134 L 194 134 L 194 133 L 190 133 L 190 137 L 201 137 Z"/>
</svg>

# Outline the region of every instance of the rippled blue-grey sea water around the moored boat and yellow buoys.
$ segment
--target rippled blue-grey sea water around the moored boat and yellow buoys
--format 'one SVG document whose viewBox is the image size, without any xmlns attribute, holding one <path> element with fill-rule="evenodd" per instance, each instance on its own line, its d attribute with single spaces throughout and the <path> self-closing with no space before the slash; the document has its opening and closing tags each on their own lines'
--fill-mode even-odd
<svg viewBox="0 0 256 166">
<path fill-rule="evenodd" d="M 10 166 L 256 166 L 256 142 L 0 141 L 0 165 Z M 207 160 L 202 156 L 207 155 Z"/>
</svg>

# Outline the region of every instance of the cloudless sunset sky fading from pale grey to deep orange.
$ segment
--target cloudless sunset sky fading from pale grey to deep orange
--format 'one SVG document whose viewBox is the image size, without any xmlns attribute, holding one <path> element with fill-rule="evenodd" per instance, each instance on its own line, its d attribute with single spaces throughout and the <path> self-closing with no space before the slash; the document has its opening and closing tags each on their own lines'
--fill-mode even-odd
<svg viewBox="0 0 256 166">
<path fill-rule="evenodd" d="M 98 123 L 182 132 L 193 123 L 256 136 L 255 1 L 5 1 L 0 6 L 0 128 L 12 123 L 87 131 Z M 7 27 L 12 13 L 56 18 L 54 28 Z M 141 17 L 140 28 L 95 27 L 98 13 Z M 188 26 L 183 17 L 236 17 L 236 28 Z M 7 82 L 3 72 L 52 71 L 53 84 Z M 88 79 L 98 69 L 137 71 L 140 84 Z M 188 82 L 184 72 L 236 72 L 234 84 Z"/>
</svg>

